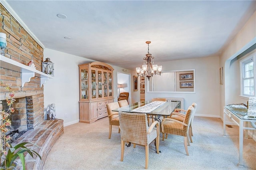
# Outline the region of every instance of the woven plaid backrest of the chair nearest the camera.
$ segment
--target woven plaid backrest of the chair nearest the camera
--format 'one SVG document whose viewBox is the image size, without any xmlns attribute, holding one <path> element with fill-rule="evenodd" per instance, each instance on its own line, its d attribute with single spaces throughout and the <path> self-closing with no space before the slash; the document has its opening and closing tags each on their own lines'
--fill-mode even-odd
<svg viewBox="0 0 256 170">
<path fill-rule="evenodd" d="M 147 145 L 148 121 L 145 113 L 119 112 L 121 140 Z"/>
</svg>

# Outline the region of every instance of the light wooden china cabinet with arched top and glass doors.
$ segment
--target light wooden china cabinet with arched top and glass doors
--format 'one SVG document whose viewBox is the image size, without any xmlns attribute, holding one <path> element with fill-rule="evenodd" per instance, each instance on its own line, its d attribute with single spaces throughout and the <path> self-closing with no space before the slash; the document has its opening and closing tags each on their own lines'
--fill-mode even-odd
<svg viewBox="0 0 256 170">
<path fill-rule="evenodd" d="M 108 116 L 108 103 L 114 102 L 113 67 L 106 63 L 92 62 L 78 65 L 80 122 L 93 123 Z"/>
</svg>

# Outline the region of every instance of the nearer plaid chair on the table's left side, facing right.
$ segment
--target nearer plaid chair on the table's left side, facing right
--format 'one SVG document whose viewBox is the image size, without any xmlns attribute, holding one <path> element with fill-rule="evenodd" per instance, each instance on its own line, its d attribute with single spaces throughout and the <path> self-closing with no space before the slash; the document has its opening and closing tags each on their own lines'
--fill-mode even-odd
<svg viewBox="0 0 256 170">
<path fill-rule="evenodd" d="M 109 121 L 109 134 L 108 134 L 109 139 L 111 137 L 112 125 L 118 126 L 118 133 L 120 133 L 118 112 L 112 111 L 113 109 L 117 109 L 117 108 L 119 108 L 118 102 L 107 104 L 108 121 Z"/>
</svg>

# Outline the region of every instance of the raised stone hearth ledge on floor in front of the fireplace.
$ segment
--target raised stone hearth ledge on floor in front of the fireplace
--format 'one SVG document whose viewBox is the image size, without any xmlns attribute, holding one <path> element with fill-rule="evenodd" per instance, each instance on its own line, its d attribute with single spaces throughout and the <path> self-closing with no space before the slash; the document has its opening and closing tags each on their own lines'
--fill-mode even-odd
<svg viewBox="0 0 256 170">
<path fill-rule="evenodd" d="M 42 160 L 35 156 L 32 158 L 29 154 L 26 154 L 26 169 L 42 170 L 48 153 L 63 133 L 64 128 L 62 119 L 45 120 L 42 121 L 42 123 L 35 129 L 28 130 L 26 133 L 20 136 L 20 138 L 12 143 L 12 146 L 15 146 L 20 142 L 31 142 L 36 144 L 38 147 L 34 145 L 27 145 L 27 147 L 38 152 L 42 157 Z M 20 159 L 17 159 L 17 169 L 22 169 Z"/>
</svg>

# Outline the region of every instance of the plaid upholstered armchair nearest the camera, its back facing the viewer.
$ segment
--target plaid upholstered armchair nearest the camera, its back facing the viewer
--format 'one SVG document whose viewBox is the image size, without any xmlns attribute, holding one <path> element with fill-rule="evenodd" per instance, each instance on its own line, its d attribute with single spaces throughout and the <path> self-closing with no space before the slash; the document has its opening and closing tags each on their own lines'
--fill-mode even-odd
<svg viewBox="0 0 256 170">
<path fill-rule="evenodd" d="M 119 112 L 121 133 L 121 161 L 124 160 L 124 144 L 131 142 L 145 146 L 145 168 L 148 168 L 149 144 L 156 140 L 156 152 L 159 154 L 159 122 L 154 121 L 148 127 L 147 115 L 145 113 Z M 155 127 L 156 126 L 156 127 Z"/>
</svg>

